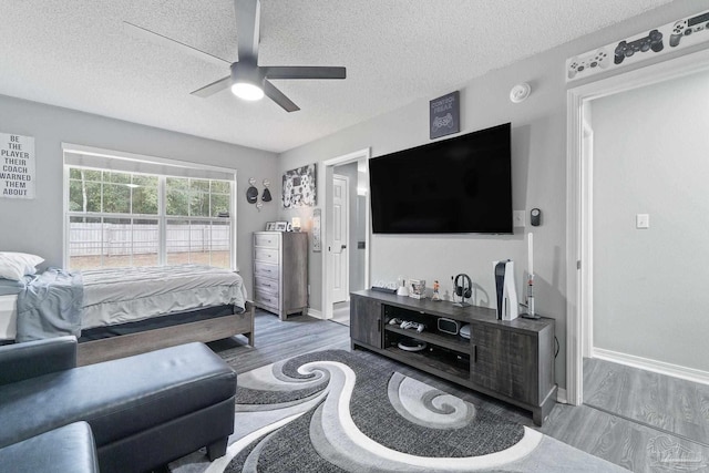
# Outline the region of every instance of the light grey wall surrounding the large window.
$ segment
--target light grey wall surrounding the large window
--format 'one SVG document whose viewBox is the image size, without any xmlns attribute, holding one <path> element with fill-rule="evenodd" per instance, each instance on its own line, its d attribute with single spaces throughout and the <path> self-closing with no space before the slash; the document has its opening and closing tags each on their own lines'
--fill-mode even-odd
<svg viewBox="0 0 709 473">
<path fill-rule="evenodd" d="M 244 195 L 251 176 L 259 192 L 264 178 L 279 182 L 274 153 L 4 95 L 0 95 L 0 132 L 33 136 L 37 156 L 35 198 L 0 198 L 0 250 L 33 253 L 47 260 L 45 266 L 62 265 L 62 142 L 205 163 L 238 169 L 237 264 L 250 291 L 251 232 L 276 219 L 278 199 L 259 213 Z M 277 197 L 280 191 L 275 187 Z"/>
</svg>

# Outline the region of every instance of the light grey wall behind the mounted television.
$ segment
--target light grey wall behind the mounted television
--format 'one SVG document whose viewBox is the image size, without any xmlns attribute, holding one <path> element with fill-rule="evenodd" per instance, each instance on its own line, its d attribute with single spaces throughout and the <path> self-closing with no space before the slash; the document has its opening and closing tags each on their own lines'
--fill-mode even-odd
<svg viewBox="0 0 709 473">
<path fill-rule="evenodd" d="M 429 101 L 448 92 L 461 92 L 461 132 L 472 132 L 512 122 L 513 207 L 543 212 L 543 225 L 534 227 L 537 312 L 556 319 L 556 336 L 561 352 L 556 359 L 556 381 L 566 385 L 566 89 L 565 61 L 619 39 L 636 35 L 657 25 L 696 13 L 700 6 L 691 0 L 678 0 L 669 6 L 580 38 L 527 60 L 492 71 L 465 84 L 451 84 L 446 90 L 425 97 L 412 97 L 412 103 L 391 113 L 374 117 L 342 132 L 281 154 L 280 169 L 346 155 L 371 147 L 372 157 L 429 142 Z M 504 45 L 501 45 L 504 54 Z M 648 65 L 706 48 L 671 51 Z M 474 61 L 474 58 L 470 59 Z M 621 71 L 637 69 L 628 64 Z M 442 71 L 441 73 L 444 73 Z M 614 71 L 612 73 L 617 73 Z M 599 74 L 600 78 L 607 74 Z M 598 76 L 596 76 L 598 78 Z M 590 79 L 594 80 L 594 79 Z M 589 79 L 575 82 L 580 85 Z M 523 103 L 508 100 L 512 86 L 520 82 L 532 85 L 532 95 Z M 333 106 L 337 106 L 333 104 Z M 323 167 L 319 166 L 319 172 Z M 435 163 L 432 163 L 435 172 Z M 319 175 L 325 174 L 323 172 Z M 325 194 L 322 179 L 319 195 Z M 322 207 L 319 200 L 318 206 Z M 288 218 L 291 213 L 281 208 Z M 301 210 L 302 215 L 311 210 Z M 527 215 L 528 219 L 528 215 Z M 517 228 L 512 236 L 393 236 L 373 235 L 371 238 L 370 280 L 395 279 L 402 275 L 439 279 L 442 290 L 450 288 L 450 277 L 466 273 L 481 286 L 475 304 L 493 305 L 492 261 L 511 258 L 517 261 L 517 281 L 526 266 L 524 232 Z M 310 285 L 322 286 L 322 254 L 310 253 Z M 517 288 L 520 294 L 521 288 Z M 320 291 L 311 290 L 310 304 L 321 306 Z"/>
</svg>

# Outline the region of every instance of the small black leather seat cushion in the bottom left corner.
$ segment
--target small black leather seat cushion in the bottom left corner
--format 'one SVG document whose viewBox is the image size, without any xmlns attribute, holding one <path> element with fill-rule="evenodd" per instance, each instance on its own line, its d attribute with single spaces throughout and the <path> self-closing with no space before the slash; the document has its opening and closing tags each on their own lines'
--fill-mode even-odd
<svg viewBox="0 0 709 473">
<path fill-rule="evenodd" d="M 16 473 L 97 473 L 91 429 L 74 422 L 0 449 L 0 469 L 6 467 Z"/>
</svg>

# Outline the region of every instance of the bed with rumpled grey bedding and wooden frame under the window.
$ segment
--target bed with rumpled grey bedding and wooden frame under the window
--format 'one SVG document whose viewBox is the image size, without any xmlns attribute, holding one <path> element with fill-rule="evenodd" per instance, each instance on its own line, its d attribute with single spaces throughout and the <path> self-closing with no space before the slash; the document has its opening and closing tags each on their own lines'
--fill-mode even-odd
<svg viewBox="0 0 709 473">
<path fill-rule="evenodd" d="M 201 265 L 80 273 L 50 268 L 19 280 L 0 279 L 0 342 L 45 338 L 56 328 L 73 331 L 80 340 L 79 364 L 235 335 L 254 345 L 254 306 L 243 282 L 236 273 Z M 49 289 L 70 296 L 52 300 Z M 40 300 L 32 304 L 48 307 L 28 306 L 31 297 Z"/>
</svg>

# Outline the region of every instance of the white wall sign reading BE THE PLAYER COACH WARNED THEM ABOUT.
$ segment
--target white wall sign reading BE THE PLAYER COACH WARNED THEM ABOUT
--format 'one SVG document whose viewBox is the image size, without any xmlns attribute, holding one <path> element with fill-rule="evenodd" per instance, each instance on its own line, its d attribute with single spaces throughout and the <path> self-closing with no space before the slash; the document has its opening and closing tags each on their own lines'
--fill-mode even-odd
<svg viewBox="0 0 709 473">
<path fill-rule="evenodd" d="M 34 198 L 34 137 L 0 133 L 0 197 Z"/>
</svg>

